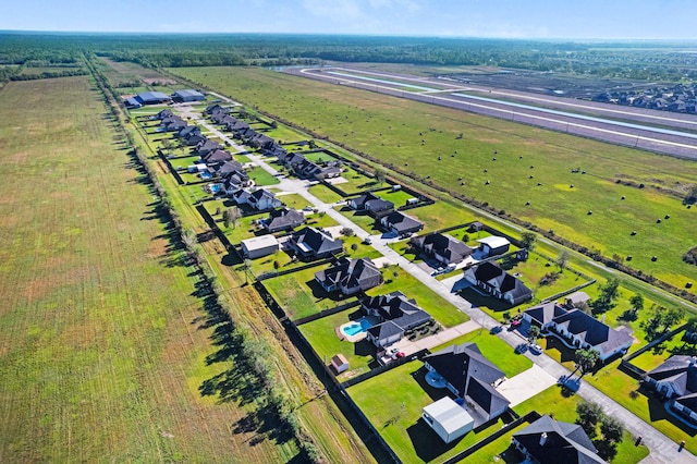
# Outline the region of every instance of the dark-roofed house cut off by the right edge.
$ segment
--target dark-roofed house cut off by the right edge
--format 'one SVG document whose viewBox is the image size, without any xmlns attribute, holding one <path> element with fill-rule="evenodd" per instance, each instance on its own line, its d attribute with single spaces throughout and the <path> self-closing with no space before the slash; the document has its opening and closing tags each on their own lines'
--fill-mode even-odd
<svg viewBox="0 0 697 464">
<path fill-rule="evenodd" d="M 645 384 L 669 401 L 669 407 L 697 427 L 697 358 L 671 356 L 645 375 Z"/>
</svg>

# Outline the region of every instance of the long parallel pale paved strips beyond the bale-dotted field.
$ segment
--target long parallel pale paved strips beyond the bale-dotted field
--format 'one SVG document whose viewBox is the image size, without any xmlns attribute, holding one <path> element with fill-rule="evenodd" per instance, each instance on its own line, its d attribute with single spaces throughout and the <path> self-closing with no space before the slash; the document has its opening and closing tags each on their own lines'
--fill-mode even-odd
<svg viewBox="0 0 697 464">
<path fill-rule="evenodd" d="M 431 105 L 438 105 L 478 114 L 505 119 L 524 124 L 536 125 L 572 135 L 599 139 L 617 145 L 641 148 L 655 152 L 697 159 L 697 118 L 688 114 L 634 108 L 599 108 L 601 103 L 570 100 L 564 98 L 545 98 L 519 91 L 508 93 L 487 90 L 487 97 L 463 94 L 463 91 L 482 93 L 477 88 L 460 83 L 442 82 L 427 77 L 405 76 L 391 73 L 377 73 L 347 68 L 306 68 L 289 69 L 284 72 L 305 77 L 321 80 L 339 85 L 362 88 L 381 94 L 408 98 Z M 491 96 L 491 97 L 490 97 Z M 496 96 L 505 96 L 506 100 Z M 511 101 L 513 98 L 527 100 L 530 105 Z M 536 106 L 535 103 L 540 103 Z M 561 105 L 560 105 L 561 103 Z M 546 106 L 564 107 L 553 110 Z M 577 110 L 576 112 L 574 110 Z M 607 113 L 615 117 L 589 115 Z"/>
</svg>

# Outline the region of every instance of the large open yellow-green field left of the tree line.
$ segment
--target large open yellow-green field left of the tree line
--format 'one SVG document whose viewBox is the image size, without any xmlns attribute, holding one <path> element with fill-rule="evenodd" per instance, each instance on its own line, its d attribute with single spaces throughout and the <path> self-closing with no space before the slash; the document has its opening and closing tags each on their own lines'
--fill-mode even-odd
<svg viewBox="0 0 697 464">
<path fill-rule="evenodd" d="M 0 90 L 0 462 L 288 462 L 254 445 L 193 269 L 88 77 Z"/>
</svg>

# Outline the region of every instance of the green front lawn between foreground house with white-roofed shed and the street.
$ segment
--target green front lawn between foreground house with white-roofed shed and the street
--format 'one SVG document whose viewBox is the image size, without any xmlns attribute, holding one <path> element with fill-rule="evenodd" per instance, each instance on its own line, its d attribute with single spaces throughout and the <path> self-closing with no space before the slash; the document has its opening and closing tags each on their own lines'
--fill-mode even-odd
<svg viewBox="0 0 697 464">
<path fill-rule="evenodd" d="M 489 361 L 491 361 L 499 369 L 503 370 L 508 378 L 516 376 L 524 370 L 533 367 L 533 362 L 525 356 L 516 354 L 508 343 L 496 335 L 490 334 L 487 330 L 475 330 L 457 337 L 448 343 L 435 346 L 430 350 L 436 353 L 450 345 L 474 342 Z"/>
</svg>

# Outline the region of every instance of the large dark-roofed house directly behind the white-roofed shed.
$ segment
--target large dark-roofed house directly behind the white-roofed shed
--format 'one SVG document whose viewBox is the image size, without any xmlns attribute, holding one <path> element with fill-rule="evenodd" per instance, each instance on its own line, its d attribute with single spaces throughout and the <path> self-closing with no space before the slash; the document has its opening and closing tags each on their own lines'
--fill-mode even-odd
<svg viewBox="0 0 697 464">
<path fill-rule="evenodd" d="M 428 370 L 445 380 L 448 390 L 467 403 L 475 426 L 499 417 L 509 408 L 509 400 L 496 389 L 505 375 L 481 354 L 476 343 L 451 345 L 423 361 Z"/>
</svg>

